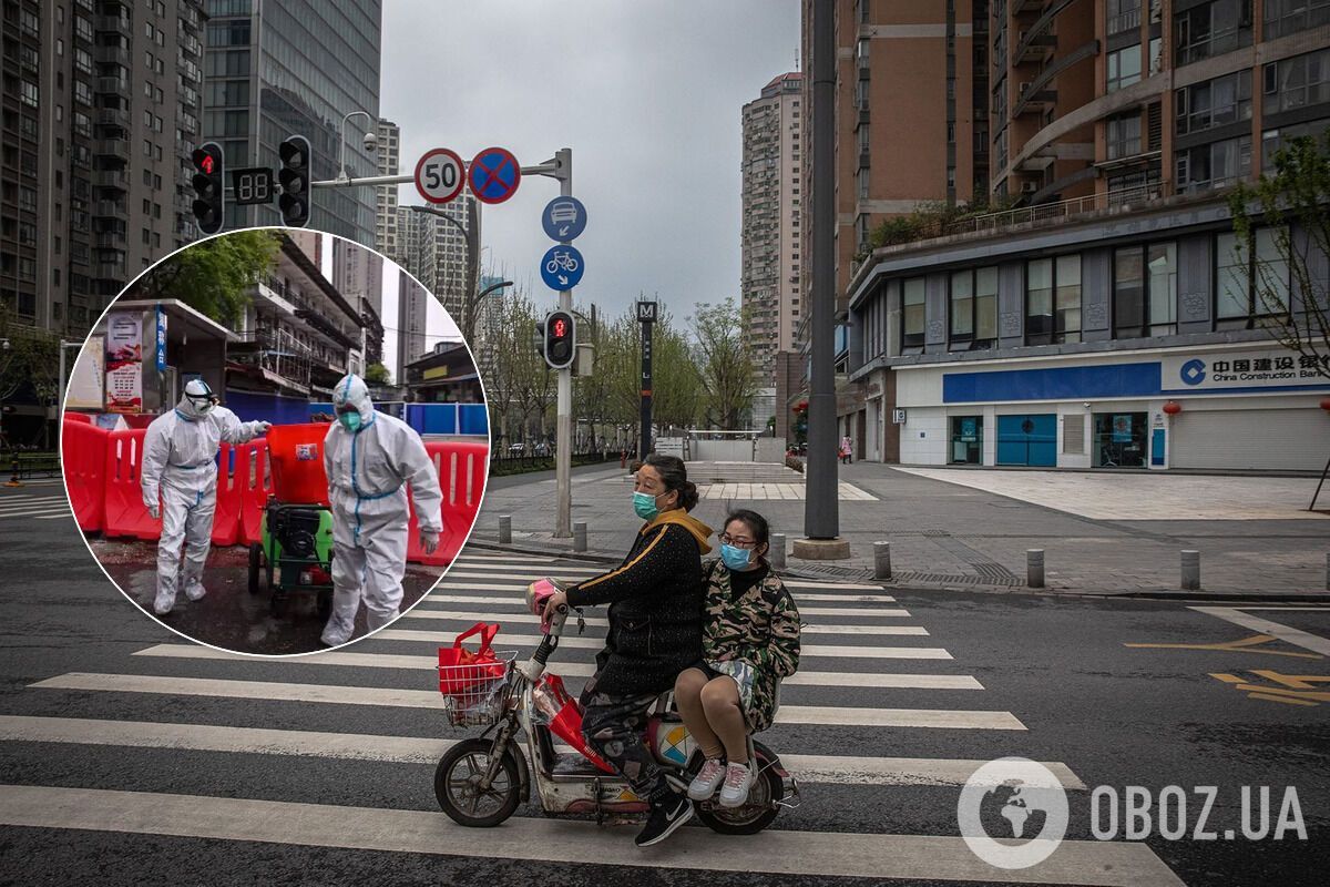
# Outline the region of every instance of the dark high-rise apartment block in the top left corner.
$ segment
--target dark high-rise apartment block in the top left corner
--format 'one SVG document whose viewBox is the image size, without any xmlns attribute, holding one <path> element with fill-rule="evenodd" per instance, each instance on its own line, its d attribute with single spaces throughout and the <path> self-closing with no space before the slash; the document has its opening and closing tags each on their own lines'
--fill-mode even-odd
<svg viewBox="0 0 1330 887">
<path fill-rule="evenodd" d="M 72 338 L 194 235 L 201 0 L 3 7 L 0 299 Z"/>
</svg>

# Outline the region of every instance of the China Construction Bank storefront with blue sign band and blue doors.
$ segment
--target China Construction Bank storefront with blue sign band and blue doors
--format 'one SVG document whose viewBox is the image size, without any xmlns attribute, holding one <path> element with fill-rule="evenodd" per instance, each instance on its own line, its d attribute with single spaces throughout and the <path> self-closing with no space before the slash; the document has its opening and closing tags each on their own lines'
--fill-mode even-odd
<svg viewBox="0 0 1330 887">
<path fill-rule="evenodd" d="M 1330 380 L 1275 344 L 906 364 L 900 463 L 1319 471 Z M 878 375 L 878 374 L 874 374 Z M 883 430 L 878 439 L 887 436 Z"/>
</svg>

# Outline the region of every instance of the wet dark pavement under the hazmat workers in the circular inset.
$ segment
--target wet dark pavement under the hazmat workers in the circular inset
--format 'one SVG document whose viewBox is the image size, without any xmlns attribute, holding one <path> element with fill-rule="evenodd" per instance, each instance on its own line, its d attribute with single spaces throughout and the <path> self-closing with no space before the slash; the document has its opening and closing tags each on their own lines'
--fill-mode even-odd
<svg viewBox="0 0 1330 887">
<path fill-rule="evenodd" d="M 249 592 L 249 548 L 213 547 L 203 569 L 207 596 L 190 601 L 184 590 L 176 608 L 166 616 L 153 614 L 157 594 L 157 543 L 124 540 L 89 540 L 89 548 L 112 581 L 150 620 L 186 638 L 237 653 L 283 656 L 327 649 L 321 641 L 325 620 L 317 613 L 318 594 L 293 590 L 286 610 L 273 613 L 266 582 L 258 594 Z M 443 574 L 440 567 L 407 564 L 402 580 L 402 610 L 419 601 Z M 355 617 L 352 640 L 364 637 L 364 608 Z"/>
</svg>

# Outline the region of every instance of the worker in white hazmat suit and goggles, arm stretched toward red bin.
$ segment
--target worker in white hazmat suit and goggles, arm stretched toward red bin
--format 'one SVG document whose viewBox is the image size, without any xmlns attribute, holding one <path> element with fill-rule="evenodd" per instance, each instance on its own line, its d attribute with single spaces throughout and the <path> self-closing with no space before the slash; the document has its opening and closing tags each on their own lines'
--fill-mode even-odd
<svg viewBox="0 0 1330 887">
<path fill-rule="evenodd" d="M 267 422 L 241 422 L 202 379 L 190 379 L 170 412 L 153 419 L 144 435 L 140 487 L 144 505 L 162 520 L 157 543 L 157 597 L 153 612 L 170 613 L 181 573 L 180 549 L 185 548 L 185 597 L 197 601 L 206 593 L 203 563 L 213 536 L 217 509 L 217 451 L 222 440 L 242 444 L 265 434 Z M 158 512 L 158 495 L 161 511 Z"/>
</svg>

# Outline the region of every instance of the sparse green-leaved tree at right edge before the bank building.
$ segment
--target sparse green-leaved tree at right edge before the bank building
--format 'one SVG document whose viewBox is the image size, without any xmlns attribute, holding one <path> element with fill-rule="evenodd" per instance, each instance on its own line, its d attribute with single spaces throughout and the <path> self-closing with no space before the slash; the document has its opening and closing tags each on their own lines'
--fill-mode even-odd
<svg viewBox="0 0 1330 887">
<path fill-rule="evenodd" d="M 1274 172 L 1229 194 L 1237 258 L 1257 255 L 1258 226 L 1273 235 L 1278 259 L 1256 261 L 1257 324 L 1303 368 L 1330 379 L 1330 295 L 1323 267 L 1330 255 L 1330 132 L 1293 140 L 1274 154 Z"/>
</svg>

